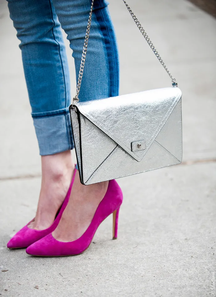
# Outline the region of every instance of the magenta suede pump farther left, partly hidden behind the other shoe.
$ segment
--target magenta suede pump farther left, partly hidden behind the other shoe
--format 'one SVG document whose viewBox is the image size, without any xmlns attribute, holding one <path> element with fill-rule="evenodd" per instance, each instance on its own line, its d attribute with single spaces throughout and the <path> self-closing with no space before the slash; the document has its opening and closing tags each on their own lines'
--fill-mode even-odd
<svg viewBox="0 0 216 297">
<path fill-rule="evenodd" d="M 61 205 L 61 208 L 55 218 L 55 221 L 52 223 L 52 225 L 44 230 L 35 230 L 35 229 L 30 229 L 28 225 L 34 220 L 31 220 L 26 226 L 24 226 L 21 230 L 19 230 L 7 243 L 8 248 L 27 248 L 29 245 L 34 243 L 35 241 L 43 238 L 44 236 L 48 235 L 50 232 L 54 231 L 56 227 L 58 226 L 58 223 L 60 221 L 60 218 L 62 216 L 62 213 L 65 209 L 65 207 L 68 204 L 69 198 L 70 198 L 70 193 L 71 189 L 73 186 L 73 182 L 75 179 L 75 174 L 76 174 L 76 168 L 74 169 L 72 181 L 70 183 L 68 192 L 64 198 L 64 202 Z"/>
</svg>

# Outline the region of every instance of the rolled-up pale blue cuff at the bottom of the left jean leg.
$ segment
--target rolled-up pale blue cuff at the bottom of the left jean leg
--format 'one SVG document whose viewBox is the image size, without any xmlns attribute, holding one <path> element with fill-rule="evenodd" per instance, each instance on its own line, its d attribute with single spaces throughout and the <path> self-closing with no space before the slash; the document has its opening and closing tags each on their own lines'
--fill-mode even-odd
<svg viewBox="0 0 216 297">
<path fill-rule="evenodd" d="M 32 113 L 41 156 L 53 155 L 74 148 L 69 107 L 64 110 Z"/>
</svg>

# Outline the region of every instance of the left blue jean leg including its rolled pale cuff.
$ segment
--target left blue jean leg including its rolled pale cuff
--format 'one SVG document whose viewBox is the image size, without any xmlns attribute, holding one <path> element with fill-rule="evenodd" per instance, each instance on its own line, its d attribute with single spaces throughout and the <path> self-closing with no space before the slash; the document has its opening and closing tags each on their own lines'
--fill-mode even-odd
<svg viewBox="0 0 216 297">
<path fill-rule="evenodd" d="M 51 0 L 7 0 L 41 155 L 73 149 L 70 80 L 60 23 Z"/>
</svg>

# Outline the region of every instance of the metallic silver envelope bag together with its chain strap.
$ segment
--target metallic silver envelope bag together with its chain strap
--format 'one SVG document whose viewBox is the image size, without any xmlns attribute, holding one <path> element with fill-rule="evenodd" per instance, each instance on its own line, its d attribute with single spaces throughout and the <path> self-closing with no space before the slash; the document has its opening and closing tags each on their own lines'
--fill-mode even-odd
<svg viewBox="0 0 216 297">
<path fill-rule="evenodd" d="M 93 2 L 77 93 L 70 106 L 81 183 L 89 185 L 181 163 L 181 90 L 125 0 L 139 30 L 172 79 L 172 87 L 78 102 Z"/>
</svg>

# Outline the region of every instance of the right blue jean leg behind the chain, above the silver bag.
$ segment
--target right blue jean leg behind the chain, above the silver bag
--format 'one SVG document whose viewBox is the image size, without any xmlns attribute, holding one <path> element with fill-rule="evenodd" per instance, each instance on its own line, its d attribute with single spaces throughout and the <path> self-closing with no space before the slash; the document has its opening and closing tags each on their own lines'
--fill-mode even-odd
<svg viewBox="0 0 216 297">
<path fill-rule="evenodd" d="M 68 35 L 78 79 L 91 0 L 53 0 L 53 4 L 61 26 Z M 80 101 L 118 95 L 118 49 L 107 4 L 105 0 L 94 2 Z M 75 95 L 75 90 L 73 93 Z"/>
</svg>

